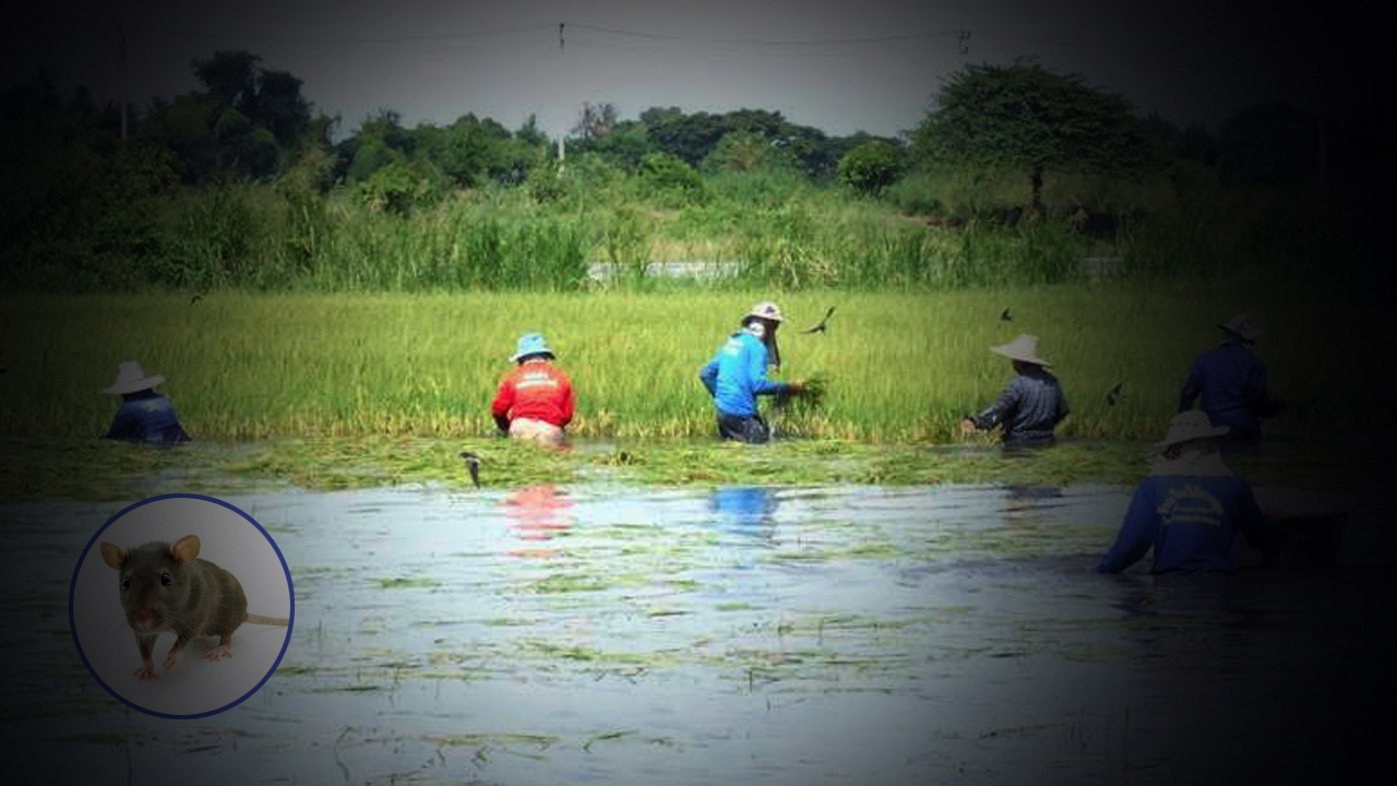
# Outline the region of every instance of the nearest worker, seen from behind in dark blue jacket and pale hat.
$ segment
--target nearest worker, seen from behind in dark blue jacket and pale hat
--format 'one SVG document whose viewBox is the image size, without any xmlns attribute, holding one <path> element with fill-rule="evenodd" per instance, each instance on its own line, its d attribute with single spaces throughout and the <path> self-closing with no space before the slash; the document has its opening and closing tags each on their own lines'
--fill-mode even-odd
<svg viewBox="0 0 1397 786">
<path fill-rule="evenodd" d="M 1235 573 L 1243 538 L 1263 548 L 1275 522 L 1224 463 L 1217 438 L 1227 432 L 1199 410 L 1173 415 L 1098 573 L 1119 573 L 1150 551 L 1151 573 Z"/>
</svg>

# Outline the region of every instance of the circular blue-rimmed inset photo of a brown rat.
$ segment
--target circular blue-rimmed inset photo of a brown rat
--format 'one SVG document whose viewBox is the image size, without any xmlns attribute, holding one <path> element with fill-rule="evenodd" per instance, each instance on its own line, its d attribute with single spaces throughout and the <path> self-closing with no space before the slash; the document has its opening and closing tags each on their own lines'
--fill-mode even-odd
<svg viewBox="0 0 1397 786">
<path fill-rule="evenodd" d="M 295 617 L 291 571 L 251 516 L 198 494 L 142 499 L 92 536 L 68 621 L 98 683 L 159 717 L 237 706 L 277 670 Z"/>
</svg>

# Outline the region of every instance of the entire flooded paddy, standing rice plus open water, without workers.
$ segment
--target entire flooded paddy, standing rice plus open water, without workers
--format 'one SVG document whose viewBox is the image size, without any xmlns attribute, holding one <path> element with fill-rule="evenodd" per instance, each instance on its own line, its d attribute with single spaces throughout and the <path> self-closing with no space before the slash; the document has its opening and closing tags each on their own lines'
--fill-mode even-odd
<svg viewBox="0 0 1397 786">
<path fill-rule="evenodd" d="M 1165 786 L 1344 780 L 1380 758 L 1397 502 L 1391 390 L 1365 355 L 1376 290 L 191 295 L 0 295 L 18 782 Z M 788 316 L 775 376 L 823 394 L 764 401 L 770 445 L 724 443 L 697 372 L 761 299 Z M 1291 407 L 1228 462 L 1270 499 L 1351 510 L 1333 564 L 1094 573 L 1236 312 L 1267 327 Z M 532 330 L 578 392 L 567 450 L 489 418 Z M 989 347 L 1018 333 L 1073 407 L 1027 455 L 957 429 L 1010 379 Z M 191 443 L 99 438 L 126 359 L 166 378 Z M 156 717 L 152 695 L 226 663 L 99 683 L 78 646 L 138 653 L 115 615 L 78 632 L 74 564 L 110 578 L 103 522 L 190 495 L 265 527 L 295 620 L 235 634 L 244 660 L 284 648 L 246 701 Z"/>
</svg>

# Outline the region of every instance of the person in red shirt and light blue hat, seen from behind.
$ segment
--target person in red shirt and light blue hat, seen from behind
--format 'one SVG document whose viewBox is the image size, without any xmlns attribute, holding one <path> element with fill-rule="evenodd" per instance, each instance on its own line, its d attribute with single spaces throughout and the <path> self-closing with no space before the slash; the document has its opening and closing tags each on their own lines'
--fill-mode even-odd
<svg viewBox="0 0 1397 786">
<path fill-rule="evenodd" d="M 573 382 L 556 365 L 543 336 L 520 336 L 510 357 L 517 365 L 500 380 L 490 415 L 511 439 L 532 439 L 560 448 L 573 420 Z"/>
</svg>

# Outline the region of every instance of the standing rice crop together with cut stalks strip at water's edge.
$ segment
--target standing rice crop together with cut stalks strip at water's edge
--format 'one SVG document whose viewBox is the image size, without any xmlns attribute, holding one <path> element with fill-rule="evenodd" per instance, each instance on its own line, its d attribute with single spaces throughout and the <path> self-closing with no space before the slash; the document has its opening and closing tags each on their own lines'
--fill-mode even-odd
<svg viewBox="0 0 1397 786">
<path fill-rule="evenodd" d="M 1236 278 L 1090 281 L 997 291 L 658 291 L 260 294 L 215 291 L 0 298 L 0 432 L 7 494 L 101 495 L 99 477 L 187 481 L 205 470 L 302 487 L 461 483 L 457 452 L 490 453 L 493 483 L 619 473 L 647 483 L 760 477 L 812 483 L 937 483 L 986 473 L 1038 480 L 1137 477 L 1215 324 L 1248 312 L 1288 411 L 1275 441 L 1369 435 L 1383 427 L 1362 362 L 1362 294 Z M 817 401 L 763 400 L 778 445 L 712 439 L 697 371 L 759 299 L 787 313 L 777 379 L 814 379 Z M 1348 308 L 1348 303 L 1352 308 Z M 828 308 L 823 333 L 800 333 Z M 1007 310 L 1009 319 L 1003 319 Z M 541 455 L 496 439 L 489 401 L 518 334 L 542 331 L 573 376 L 577 450 Z M 1041 338 L 1071 404 L 1060 450 L 1002 464 L 993 434 L 957 424 L 1009 382 L 989 347 Z M 159 390 L 194 436 L 162 456 L 96 439 L 119 362 L 166 378 Z M 1120 385 L 1120 397 L 1106 392 Z M 1373 413 L 1379 413 L 1375 420 Z M 1312 464 L 1320 460 L 1310 456 Z M 105 467 L 106 473 L 95 471 Z M 1340 474 L 1351 470 L 1341 470 Z M 729 477 L 731 476 L 731 477 Z M 1277 478 L 1285 480 L 1285 478 Z M 101 484 L 99 484 L 101 485 Z"/>
</svg>

